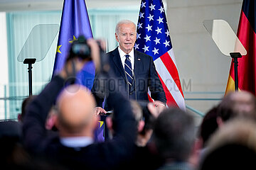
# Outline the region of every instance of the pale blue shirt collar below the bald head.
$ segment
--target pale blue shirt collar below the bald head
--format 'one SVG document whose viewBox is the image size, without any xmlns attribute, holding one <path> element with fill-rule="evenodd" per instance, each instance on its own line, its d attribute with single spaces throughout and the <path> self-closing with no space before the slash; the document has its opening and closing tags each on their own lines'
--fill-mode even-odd
<svg viewBox="0 0 256 170">
<path fill-rule="evenodd" d="M 92 137 L 60 137 L 60 143 L 65 147 L 87 147 L 93 143 Z"/>
</svg>

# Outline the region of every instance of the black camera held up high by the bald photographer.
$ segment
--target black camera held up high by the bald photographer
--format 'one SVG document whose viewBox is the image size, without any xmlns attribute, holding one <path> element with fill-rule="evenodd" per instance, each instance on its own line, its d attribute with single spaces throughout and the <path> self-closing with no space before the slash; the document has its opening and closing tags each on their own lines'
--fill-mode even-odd
<svg viewBox="0 0 256 170">
<path fill-rule="evenodd" d="M 87 45 L 86 38 L 80 35 L 78 40 L 73 41 L 70 47 L 70 55 L 67 60 L 79 57 L 82 60 L 92 60 L 90 46 Z"/>
</svg>

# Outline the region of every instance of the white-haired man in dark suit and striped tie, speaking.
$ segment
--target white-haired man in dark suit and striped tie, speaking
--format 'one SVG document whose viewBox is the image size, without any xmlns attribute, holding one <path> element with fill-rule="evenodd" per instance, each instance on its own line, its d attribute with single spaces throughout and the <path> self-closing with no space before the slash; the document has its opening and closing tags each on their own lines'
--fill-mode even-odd
<svg viewBox="0 0 256 170">
<path fill-rule="evenodd" d="M 166 96 L 163 86 L 159 80 L 153 58 L 142 52 L 134 50 L 134 44 L 137 38 L 136 26 L 132 21 L 119 21 L 115 30 L 115 38 L 119 42 L 119 47 L 107 53 L 109 57 L 108 64 L 114 76 L 118 80 L 119 86 L 122 86 L 124 96 L 129 99 L 139 101 L 149 101 L 148 89 L 151 92 L 151 98 L 160 101 L 159 107 L 165 106 Z M 94 94 L 98 113 L 105 113 L 105 110 L 111 110 L 107 96 L 99 95 L 98 75 L 96 72 L 92 94 Z M 116 90 L 117 87 L 112 87 Z M 102 102 L 105 101 L 105 110 Z"/>
</svg>

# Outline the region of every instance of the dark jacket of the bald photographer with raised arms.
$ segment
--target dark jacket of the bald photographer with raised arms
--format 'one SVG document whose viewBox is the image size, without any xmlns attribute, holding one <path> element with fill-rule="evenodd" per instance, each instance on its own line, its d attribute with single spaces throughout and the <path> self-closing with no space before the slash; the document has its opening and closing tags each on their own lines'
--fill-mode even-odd
<svg viewBox="0 0 256 170">
<path fill-rule="evenodd" d="M 64 84 L 61 77 L 53 77 L 50 84 L 29 104 L 23 123 L 26 149 L 69 169 L 122 169 L 119 165 L 132 157 L 137 131 L 129 101 L 117 93 L 110 93 L 117 128 L 113 140 L 87 147 L 65 147 L 58 135 L 47 133 L 45 128 L 48 112 Z"/>
</svg>

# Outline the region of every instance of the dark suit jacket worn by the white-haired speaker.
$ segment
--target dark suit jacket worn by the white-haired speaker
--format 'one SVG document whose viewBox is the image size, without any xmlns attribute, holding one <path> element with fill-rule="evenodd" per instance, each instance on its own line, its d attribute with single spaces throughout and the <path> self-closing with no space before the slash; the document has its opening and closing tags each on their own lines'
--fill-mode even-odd
<svg viewBox="0 0 256 170">
<path fill-rule="evenodd" d="M 166 96 L 164 93 L 163 86 L 159 80 L 158 74 L 156 72 L 156 67 L 154 66 L 153 58 L 142 52 L 134 50 L 134 79 L 132 82 L 132 88 L 128 91 L 127 79 L 124 73 L 124 67 L 119 56 L 118 48 L 107 53 L 109 57 L 109 64 L 114 77 L 117 79 L 118 86 L 122 88 L 112 87 L 110 91 L 122 89 L 122 93 L 130 99 L 138 101 L 149 101 L 148 98 L 148 88 L 151 91 L 151 98 L 157 101 L 162 101 L 166 103 Z M 104 97 L 97 96 L 97 72 L 95 74 L 95 81 L 92 86 L 92 94 L 94 94 L 97 105 L 102 107 L 102 102 Z M 110 110 L 108 100 L 106 98 L 105 109 Z"/>
</svg>

